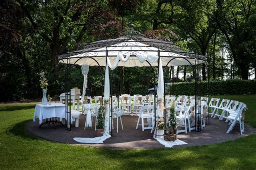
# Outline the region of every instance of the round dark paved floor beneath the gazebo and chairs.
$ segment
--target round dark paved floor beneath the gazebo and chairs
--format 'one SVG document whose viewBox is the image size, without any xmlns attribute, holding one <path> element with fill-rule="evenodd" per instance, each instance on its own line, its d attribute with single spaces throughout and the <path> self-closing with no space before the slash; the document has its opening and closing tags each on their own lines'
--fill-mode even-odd
<svg viewBox="0 0 256 170">
<path fill-rule="evenodd" d="M 92 129 L 84 130 L 85 116 L 80 116 L 79 128 L 75 128 L 72 125 L 71 131 L 65 130 L 64 126 L 57 124 L 56 129 L 53 126 L 43 125 L 41 129 L 38 128 L 39 123 L 30 121 L 26 125 L 26 129 L 40 138 L 57 141 L 60 143 L 79 144 L 87 146 L 105 146 L 105 147 L 119 147 L 119 148 L 163 148 L 164 146 L 159 144 L 157 140 L 153 139 L 153 134 L 150 130 L 142 131 L 141 126 L 136 129 L 137 116 L 123 115 L 124 130 L 121 130 L 119 121 L 119 131 L 116 131 L 116 119 L 114 119 L 114 130 L 112 137 L 106 139 L 104 144 L 83 144 L 73 140 L 74 137 L 96 137 L 94 130 L 94 123 Z M 177 138 L 183 140 L 187 145 L 179 145 L 174 147 L 188 147 L 188 146 L 201 146 L 214 143 L 221 143 L 227 140 L 234 140 L 237 138 L 248 136 L 255 133 L 255 129 L 249 125 L 245 125 L 245 133 L 240 134 L 239 124 L 235 125 L 231 133 L 226 133 L 228 129 L 225 121 L 219 121 L 218 119 L 210 118 L 210 125 L 206 125 L 201 132 L 188 132 L 178 134 Z"/>
</svg>

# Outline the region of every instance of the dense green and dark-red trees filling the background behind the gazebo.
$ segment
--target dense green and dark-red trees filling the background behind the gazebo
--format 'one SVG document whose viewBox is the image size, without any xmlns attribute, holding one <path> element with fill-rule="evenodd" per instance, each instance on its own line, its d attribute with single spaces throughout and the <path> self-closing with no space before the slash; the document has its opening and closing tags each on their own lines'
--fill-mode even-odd
<svg viewBox="0 0 256 170">
<path fill-rule="evenodd" d="M 54 87 L 59 94 L 65 76 L 58 55 L 116 38 L 131 23 L 145 37 L 206 55 L 202 80 L 207 73 L 214 80 L 248 79 L 252 70 L 255 75 L 255 0 L 5 0 L 0 9 L 1 101 L 40 96 L 42 71 L 48 73 L 50 93 Z M 171 81 L 170 69 L 164 70 L 165 81 Z M 176 70 L 184 74 L 180 81 L 187 80 L 186 74 L 193 76 L 188 67 Z M 146 93 L 154 86 L 154 72 L 157 69 L 117 68 L 112 72 L 113 90 Z M 91 67 L 89 74 L 88 93 L 99 95 L 103 73 Z M 72 86 L 82 88 L 82 79 L 80 67 L 74 66 Z"/>
</svg>

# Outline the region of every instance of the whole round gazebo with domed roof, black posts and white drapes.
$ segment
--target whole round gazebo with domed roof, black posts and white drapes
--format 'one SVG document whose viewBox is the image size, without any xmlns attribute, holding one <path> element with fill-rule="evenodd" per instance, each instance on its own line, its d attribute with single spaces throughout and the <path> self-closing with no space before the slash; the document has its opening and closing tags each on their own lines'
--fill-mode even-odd
<svg viewBox="0 0 256 170">
<path fill-rule="evenodd" d="M 104 136 L 100 140 L 110 137 L 112 128 L 112 102 L 109 104 L 110 82 L 109 68 L 116 67 L 157 67 L 158 68 L 158 86 L 157 94 L 154 94 L 155 120 L 159 117 L 165 118 L 165 110 L 160 105 L 165 105 L 165 86 L 163 66 L 184 66 L 190 65 L 193 69 L 195 80 L 195 122 L 196 131 L 201 131 L 201 113 L 200 113 L 200 96 L 198 82 L 200 81 L 199 65 L 206 62 L 206 56 L 199 53 L 186 52 L 180 47 L 170 42 L 149 39 L 143 37 L 142 33 L 134 30 L 134 25 L 123 36 L 116 39 L 107 39 L 92 42 L 84 49 L 69 52 L 59 56 L 59 62 L 65 63 L 66 67 L 66 91 L 70 91 L 70 73 L 71 65 L 88 65 L 88 66 L 105 66 L 105 84 L 104 84 L 104 106 L 105 106 L 105 129 Z M 66 119 L 71 119 L 71 106 L 68 104 L 70 92 L 66 93 Z M 156 104 L 156 98 L 158 104 Z M 110 123 L 111 120 L 111 123 Z M 156 122 L 155 121 L 155 122 Z M 66 122 L 66 129 L 70 130 L 70 121 Z M 96 139 L 97 141 L 98 139 Z"/>
</svg>

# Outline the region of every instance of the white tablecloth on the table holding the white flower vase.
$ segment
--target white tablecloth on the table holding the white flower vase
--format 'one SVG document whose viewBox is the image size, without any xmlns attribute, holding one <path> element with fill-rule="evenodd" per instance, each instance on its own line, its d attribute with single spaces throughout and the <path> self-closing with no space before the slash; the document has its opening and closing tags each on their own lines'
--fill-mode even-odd
<svg viewBox="0 0 256 170">
<path fill-rule="evenodd" d="M 43 119 L 59 117 L 65 118 L 65 104 L 51 103 L 51 105 L 36 104 L 33 121 L 36 122 L 36 117 L 39 118 L 39 124 L 43 123 Z"/>
</svg>

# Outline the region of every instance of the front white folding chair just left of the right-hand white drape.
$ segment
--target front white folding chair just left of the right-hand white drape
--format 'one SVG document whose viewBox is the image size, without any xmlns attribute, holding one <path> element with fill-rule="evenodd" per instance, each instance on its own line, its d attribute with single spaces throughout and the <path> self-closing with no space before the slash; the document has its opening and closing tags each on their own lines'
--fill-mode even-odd
<svg viewBox="0 0 256 170">
<path fill-rule="evenodd" d="M 154 117 L 154 106 L 153 105 L 144 105 L 140 108 L 140 114 L 137 122 L 136 129 L 138 129 L 139 125 L 142 125 L 142 131 L 145 129 L 153 128 L 153 117 Z M 149 122 L 149 126 L 145 127 L 144 118 L 146 118 Z M 142 124 L 139 124 L 140 119 L 142 120 Z"/>
</svg>

